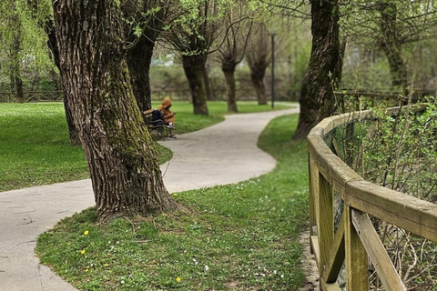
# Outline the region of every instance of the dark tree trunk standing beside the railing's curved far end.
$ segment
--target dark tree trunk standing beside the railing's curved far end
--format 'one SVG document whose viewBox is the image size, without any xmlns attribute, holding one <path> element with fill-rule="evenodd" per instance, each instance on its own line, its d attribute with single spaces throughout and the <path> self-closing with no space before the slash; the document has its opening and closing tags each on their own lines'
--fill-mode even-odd
<svg viewBox="0 0 437 291">
<path fill-rule="evenodd" d="M 300 117 L 294 139 L 306 138 L 310 129 L 333 114 L 340 55 L 338 0 L 311 0 L 312 48 L 300 91 Z"/>
</svg>

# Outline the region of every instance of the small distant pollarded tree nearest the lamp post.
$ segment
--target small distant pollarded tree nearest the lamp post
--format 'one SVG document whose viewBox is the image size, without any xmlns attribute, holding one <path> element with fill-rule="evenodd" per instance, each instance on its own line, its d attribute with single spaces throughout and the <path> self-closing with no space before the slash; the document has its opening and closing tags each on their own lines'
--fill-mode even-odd
<svg viewBox="0 0 437 291">
<path fill-rule="evenodd" d="M 250 80 L 255 87 L 258 104 L 266 105 L 267 95 L 264 76 L 270 64 L 271 52 L 269 46 L 269 32 L 264 23 L 255 24 L 253 34 L 250 35 L 246 59 L 249 64 Z"/>
</svg>

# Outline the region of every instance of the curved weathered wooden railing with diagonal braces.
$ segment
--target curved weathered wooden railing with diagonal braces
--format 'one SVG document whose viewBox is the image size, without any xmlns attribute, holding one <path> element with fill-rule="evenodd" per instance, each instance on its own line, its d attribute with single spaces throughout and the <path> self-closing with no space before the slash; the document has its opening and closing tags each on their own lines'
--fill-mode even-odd
<svg viewBox="0 0 437 291">
<path fill-rule="evenodd" d="M 388 114 L 394 115 L 396 109 Z M 320 289 L 369 290 L 369 260 L 385 290 L 406 290 L 369 216 L 437 242 L 437 205 L 365 181 L 330 150 L 325 138 L 339 126 L 374 119 L 370 111 L 337 115 L 316 125 L 308 136 L 310 170 L 310 245 L 320 272 Z M 342 200 L 334 226 L 334 193 Z"/>
</svg>

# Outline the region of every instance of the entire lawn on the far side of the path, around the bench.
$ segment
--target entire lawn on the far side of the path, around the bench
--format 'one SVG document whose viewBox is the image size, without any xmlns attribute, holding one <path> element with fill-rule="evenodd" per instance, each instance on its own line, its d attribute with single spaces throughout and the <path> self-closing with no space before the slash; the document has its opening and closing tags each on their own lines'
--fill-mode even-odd
<svg viewBox="0 0 437 291">
<path fill-rule="evenodd" d="M 175 102 L 176 133 L 216 124 L 227 113 L 225 102 L 211 102 L 208 107 L 209 116 L 193 115 L 188 102 Z M 239 109 L 270 110 L 269 105 L 245 102 Z M 62 103 L 0 104 L 0 192 L 87 178 L 85 155 L 80 147 L 71 147 L 68 138 Z M 168 160 L 171 152 L 157 146 L 160 162 Z"/>
</svg>

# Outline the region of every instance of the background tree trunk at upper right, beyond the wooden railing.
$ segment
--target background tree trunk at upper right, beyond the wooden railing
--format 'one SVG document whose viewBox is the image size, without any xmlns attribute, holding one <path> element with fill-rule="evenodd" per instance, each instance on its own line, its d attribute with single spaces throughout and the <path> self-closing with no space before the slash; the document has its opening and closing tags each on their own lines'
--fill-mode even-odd
<svg viewBox="0 0 437 291">
<path fill-rule="evenodd" d="M 394 3 L 380 3 L 379 11 L 381 13 L 381 48 L 389 61 L 391 73 L 391 85 L 401 86 L 401 89 L 407 93 L 407 66 L 402 58 L 401 40 L 396 28 L 397 7 Z"/>
</svg>

